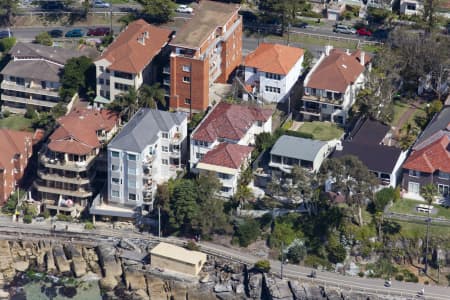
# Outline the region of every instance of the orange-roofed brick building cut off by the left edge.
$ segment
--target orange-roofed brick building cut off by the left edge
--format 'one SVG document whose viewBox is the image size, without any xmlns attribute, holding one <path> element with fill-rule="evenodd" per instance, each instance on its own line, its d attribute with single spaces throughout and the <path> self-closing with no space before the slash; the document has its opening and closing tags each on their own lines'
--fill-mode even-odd
<svg viewBox="0 0 450 300">
<path fill-rule="evenodd" d="M 0 128 L 0 205 L 17 188 L 33 154 L 34 134 Z"/>
</svg>

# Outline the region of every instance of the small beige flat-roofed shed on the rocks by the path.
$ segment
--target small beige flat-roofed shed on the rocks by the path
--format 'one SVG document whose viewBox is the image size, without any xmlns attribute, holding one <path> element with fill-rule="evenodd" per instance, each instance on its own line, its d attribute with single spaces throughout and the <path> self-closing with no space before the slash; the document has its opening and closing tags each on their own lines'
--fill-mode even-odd
<svg viewBox="0 0 450 300">
<path fill-rule="evenodd" d="M 150 251 L 152 267 L 197 276 L 206 262 L 206 254 L 167 243 L 159 243 Z"/>
</svg>

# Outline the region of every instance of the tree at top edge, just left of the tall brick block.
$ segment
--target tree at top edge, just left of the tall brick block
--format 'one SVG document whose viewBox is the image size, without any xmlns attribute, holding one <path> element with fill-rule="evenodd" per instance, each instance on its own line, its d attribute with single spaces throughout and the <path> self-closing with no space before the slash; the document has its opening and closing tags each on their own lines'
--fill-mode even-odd
<svg viewBox="0 0 450 300">
<path fill-rule="evenodd" d="M 138 0 L 144 18 L 149 23 L 161 24 L 172 20 L 176 4 L 171 0 Z"/>
</svg>

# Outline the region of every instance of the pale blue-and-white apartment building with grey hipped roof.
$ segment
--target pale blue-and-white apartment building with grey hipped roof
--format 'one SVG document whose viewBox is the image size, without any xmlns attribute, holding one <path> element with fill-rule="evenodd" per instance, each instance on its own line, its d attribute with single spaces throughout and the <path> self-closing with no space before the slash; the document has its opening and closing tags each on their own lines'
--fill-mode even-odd
<svg viewBox="0 0 450 300">
<path fill-rule="evenodd" d="M 108 145 L 108 205 L 153 210 L 157 185 L 183 170 L 186 154 L 185 113 L 140 109 Z"/>
</svg>

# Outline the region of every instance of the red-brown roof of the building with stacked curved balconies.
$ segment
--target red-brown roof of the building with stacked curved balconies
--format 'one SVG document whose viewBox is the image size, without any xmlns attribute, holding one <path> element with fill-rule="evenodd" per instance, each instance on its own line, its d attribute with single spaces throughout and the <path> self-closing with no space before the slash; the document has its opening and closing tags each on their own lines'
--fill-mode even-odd
<svg viewBox="0 0 450 300">
<path fill-rule="evenodd" d="M 110 131 L 118 116 L 109 110 L 75 109 L 58 119 L 59 127 L 50 136 L 48 147 L 55 152 L 88 154 L 100 147 L 98 130 Z"/>
</svg>

